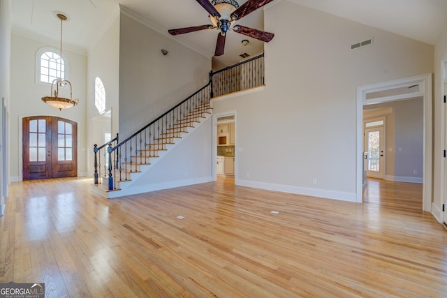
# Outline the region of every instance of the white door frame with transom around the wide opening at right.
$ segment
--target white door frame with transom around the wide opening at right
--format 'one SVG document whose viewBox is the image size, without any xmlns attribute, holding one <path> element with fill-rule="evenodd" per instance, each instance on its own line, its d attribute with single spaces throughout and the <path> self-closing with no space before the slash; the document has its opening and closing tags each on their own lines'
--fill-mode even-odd
<svg viewBox="0 0 447 298">
<path fill-rule="evenodd" d="M 398 94 L 379 98 L 367 99 L 367 94 L 377 91 L 386 91 L 402 87 L 409 87 L 418 84 L 419 89 L 413 93 Z M 432 161 L 433 161 L 433 131 L 432 131 L 432 74 L 417 75 L 415 77 L 406 77 L 399 80 L 368 84 L 357 87 L 357 136 L 356 136 L 356 202 L 363 200 L 363 105 L 372 105 L 374 103 L 388 103 L 395 100 L 408 98 L 423 98 L 423 211 L 432 211 Z"/>
</svg>

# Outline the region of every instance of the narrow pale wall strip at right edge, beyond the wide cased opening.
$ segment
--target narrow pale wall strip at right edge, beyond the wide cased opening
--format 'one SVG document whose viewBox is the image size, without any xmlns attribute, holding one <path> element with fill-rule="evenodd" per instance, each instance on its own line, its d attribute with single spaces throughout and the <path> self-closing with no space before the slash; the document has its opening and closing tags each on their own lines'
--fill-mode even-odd
<svg viewBox="0 0 447 298">
<path fill-rule="evenodd" d="M 447 93 L 444 90 L 444 80 L 447 78 L 443 73 L 444 62 L 447 61 L 447 29 L 439 37 L 438 43 L 434 47 L 434 161 L 433 161 L 433 204 L 432 211 L 438 220 L 442 220 L 442 204 L 444 204 L 446 176 L 444 174 L 443 164 L 446 159 L 443 158 L 443 151 L 446 146 L 446 128 L 444 127 L 447 115 L 444 113 L 445 105 L 443 96 Z M 444 121 L 443 121 L 444 117 Z M 446 221 L 447 218 L 444 218 Z"/>
</svg>

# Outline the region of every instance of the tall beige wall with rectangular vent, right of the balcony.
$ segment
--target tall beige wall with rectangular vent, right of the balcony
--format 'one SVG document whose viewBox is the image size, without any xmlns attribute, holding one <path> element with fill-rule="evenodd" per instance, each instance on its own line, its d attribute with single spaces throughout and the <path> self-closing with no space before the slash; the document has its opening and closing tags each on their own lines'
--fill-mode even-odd
<svg viewBox="0 0 447 298">
<path fill-rule="evenodd" d="M 237 111 L 237 184 L 355 201 L 356 88 L 432 73 L 432 45 L 290 1 L 265 30 L 265 91 L 213 105 Z"/>
</svg>

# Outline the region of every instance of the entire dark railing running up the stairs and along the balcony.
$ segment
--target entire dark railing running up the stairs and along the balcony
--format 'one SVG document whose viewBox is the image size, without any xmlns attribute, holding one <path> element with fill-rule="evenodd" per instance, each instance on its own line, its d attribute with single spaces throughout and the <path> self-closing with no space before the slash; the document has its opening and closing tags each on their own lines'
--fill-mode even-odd
<svg viewBox="0 0 447 298">
<path fill-rule="evenodd" d="M 98 177 L 103 177 L 107 179 L 109 190 L 116 189 L 117 181 L 128 181 L 130 173 L 139 172 L 140 165 L 150 164 L 149 158 L 159 157 L 159 151 L 166 150 L 168 144 L 174 144 L 175 138 L 182 137 L 188 127 L 199 122 L 199 118 L 203 118 L 203 114 L 210 109 L 211 98 L 263 85 L 264 54 L 216 72 L 211 70 L 209 75 L 210 80 L 204 87 L 122 142 L 119 142 L 117 135 L 100 147 L 95 144 L 94 183 L 101 184 Z M 104 156 L 103 176 L 101 154 Z"/>
</svg>

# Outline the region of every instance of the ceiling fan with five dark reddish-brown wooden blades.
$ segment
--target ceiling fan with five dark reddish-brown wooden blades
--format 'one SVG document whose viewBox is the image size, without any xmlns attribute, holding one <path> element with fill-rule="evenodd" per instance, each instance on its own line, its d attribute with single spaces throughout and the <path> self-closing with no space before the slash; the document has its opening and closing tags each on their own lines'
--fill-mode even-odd
<svg viewBox="0 0 447 298">
<path fill-rule="evenodd" d="M 216 50 L 214 52 L 215 56 L 223 55 L 223 50 L 225 48 L 225 38 L 226 33 L 229 29 L 233 31 L 244 34 L 258 40 L 262 40 L 268 43 L 272 40 L 274 33 L 261 31 L 258 29 L 253 29 L 249 27 L 244 27 L 242 25 L 233 25 L 232 22 L 242 19 L 242 17 L 253 13 L 258 8 L 265 6 L 265 4 L 273 0 L 248 0 L 242 6 L 235 0 L 196 0 L 200 6 L 205 8 L 208 13 L 212 24 L 198 25 L 193 27 L 170 29 L 168 32 L 172 35 L 179 35 L 184 33 L 190 33 L 194 31 L 200 31 L 205 29 L 217 29 L 219 34 L 217 35 Z"/>
</svg>

